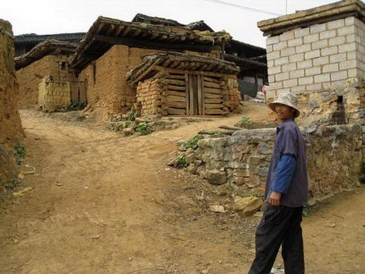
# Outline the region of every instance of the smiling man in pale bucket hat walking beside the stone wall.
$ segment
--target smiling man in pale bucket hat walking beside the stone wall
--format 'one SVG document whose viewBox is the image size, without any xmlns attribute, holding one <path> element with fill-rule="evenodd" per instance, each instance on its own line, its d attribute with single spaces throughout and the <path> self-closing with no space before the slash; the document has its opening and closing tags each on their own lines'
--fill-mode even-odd
<svg viewBox="0 0 365 274">
<path fill-rule="evenodd" d="M 267 174 L 267 207 L 256 230 L 256 256 L 248 274 L 270 274 L 281 245 L 286 274 L 304 273 L 303 237 L 300 223 L 308 197 L 303 136 L 294 119 L 300 115 L 296 96 L 281 93 L 269 104 L 281 124 Z"/>
</svg>

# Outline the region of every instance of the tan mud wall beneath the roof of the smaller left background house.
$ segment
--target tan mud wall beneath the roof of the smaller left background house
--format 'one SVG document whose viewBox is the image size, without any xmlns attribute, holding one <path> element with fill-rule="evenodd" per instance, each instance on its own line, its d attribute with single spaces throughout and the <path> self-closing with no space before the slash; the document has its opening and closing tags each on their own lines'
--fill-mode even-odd
<svg viewBox="0 0 365 274">
<path fill-rule="evenodd" d="M 66 55 L 48 55 L 16 72 L 19 82 L 18 105 L 20 108 L 38 104 L 38 85 L 42 78 L 51 75 L 53 79 L 72 80 L 72 73 L 61 69 L 67 63 Z M 36 77 L 38 75 L 39 77 Z"/>
</svg>

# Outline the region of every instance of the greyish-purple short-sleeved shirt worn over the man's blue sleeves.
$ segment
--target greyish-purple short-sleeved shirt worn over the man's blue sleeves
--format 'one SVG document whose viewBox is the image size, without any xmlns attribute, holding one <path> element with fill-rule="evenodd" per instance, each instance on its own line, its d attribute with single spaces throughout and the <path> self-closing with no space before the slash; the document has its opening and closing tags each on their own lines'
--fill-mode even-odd
<svg viewBox="0 0 365 274">
<path fill-rule="evenodd" d="M 295 157 L 296 167 L 288 192 L 281 194 L 280 203 L 286 207 L 301 207 L 308 200 L 307 160 L 302 133 L 293 119 L 288 119 L 277 127 L 277 138 L 266 180 L 265 200 L 272 193 L 277 167 L 283 155 Z"/>
</svg>

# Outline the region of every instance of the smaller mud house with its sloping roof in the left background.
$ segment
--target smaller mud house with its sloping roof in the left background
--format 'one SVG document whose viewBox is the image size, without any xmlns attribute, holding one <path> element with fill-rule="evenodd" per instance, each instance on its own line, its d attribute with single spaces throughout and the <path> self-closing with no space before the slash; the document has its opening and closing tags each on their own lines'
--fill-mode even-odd
<svg viewBox="0 0 365 274">
<path fill-rule="evenodd" d="M 69 70 L 69 57 L 76 51 L 77 44 L 47 40 L 32 50 L 15 58 L 16 76 L 19 82 L 18 105 L 29 107 L 39 103 L 39 84 L 44 77 L 58 81 L 74 81 Z"/>
</svg>

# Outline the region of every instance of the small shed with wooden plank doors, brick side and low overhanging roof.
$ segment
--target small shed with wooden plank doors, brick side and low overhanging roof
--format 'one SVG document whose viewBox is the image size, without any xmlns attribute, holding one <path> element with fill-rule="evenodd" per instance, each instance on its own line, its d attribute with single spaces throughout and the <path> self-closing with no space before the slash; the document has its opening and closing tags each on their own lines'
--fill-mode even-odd
<svg viewBox="0 0 365 274">
<path fill-rule="evenodd" d="M 155 53 L 127 74 L 141 115 L 228 115 L 241 94 L 239 67 L 217 58 Z"/>
</svg>

